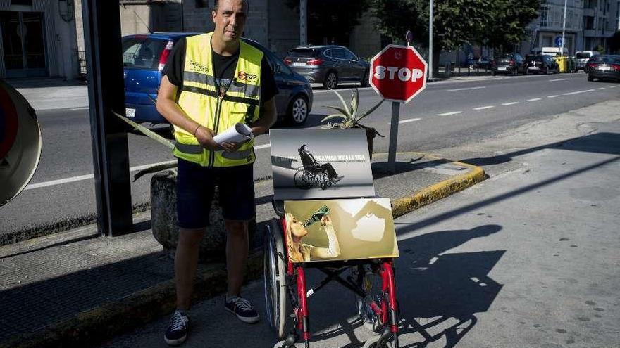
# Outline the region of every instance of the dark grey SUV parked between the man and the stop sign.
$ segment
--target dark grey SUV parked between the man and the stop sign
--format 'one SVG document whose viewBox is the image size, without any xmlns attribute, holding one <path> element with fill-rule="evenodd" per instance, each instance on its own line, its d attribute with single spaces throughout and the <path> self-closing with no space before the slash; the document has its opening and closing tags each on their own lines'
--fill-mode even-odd
<svg viewBox="0 0 620 348">
<path fill-rule="evenodd" d="M 292 70 L 309 82 L 335 89 L 339 82 L 360 82 L 368 86 L 370 64 L 344 46 L 299 46 L 284 58 Z"/>
</svg>

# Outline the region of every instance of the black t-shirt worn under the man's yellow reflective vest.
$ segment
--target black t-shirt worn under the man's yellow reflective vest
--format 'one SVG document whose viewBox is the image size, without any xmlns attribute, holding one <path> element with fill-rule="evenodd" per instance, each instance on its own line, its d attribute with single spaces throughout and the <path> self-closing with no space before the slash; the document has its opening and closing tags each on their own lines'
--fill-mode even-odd
<svg viewBox="0 0 620 348">
<path fill-rule="evenodd" d="M 168 80 L 175 86 L 183 84 L 183 70 L 185 67 L 185 38 L 180 39 L 173 47 L 166 66 L 163 67 L 163 75 L 168 76 Z M 216 86 L 220 89 L 226 89 L 235 77 L 235 68 L 239 59 L 239 52 L 233 56 L 221 56 L 213 52 L 213 76 L 216 78 Z M 278 94 L 278 88 L 275 86 L 273 71 L 267 62 L 267 57 L 263 56 L 261 62 L 261 101 L 264 103 Z"/>
</svg>

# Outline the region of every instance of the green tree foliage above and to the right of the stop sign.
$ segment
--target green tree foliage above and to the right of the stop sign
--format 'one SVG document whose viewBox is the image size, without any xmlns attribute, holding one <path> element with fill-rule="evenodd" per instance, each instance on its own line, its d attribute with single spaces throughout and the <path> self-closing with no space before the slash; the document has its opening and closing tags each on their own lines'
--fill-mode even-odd
<svg viewBox="0 0 620 348">
<path fill-rule="evenodd" d="M 428 47 L 428 0 L 370 0 L 379 30 L 400 39 L 407 30 Z M 498 48 L 516 44 L 525 27 L 538 18 L 541 0 L 435 0 L 434 49 L 454 50 L 463 44 Z"/>
</svg>

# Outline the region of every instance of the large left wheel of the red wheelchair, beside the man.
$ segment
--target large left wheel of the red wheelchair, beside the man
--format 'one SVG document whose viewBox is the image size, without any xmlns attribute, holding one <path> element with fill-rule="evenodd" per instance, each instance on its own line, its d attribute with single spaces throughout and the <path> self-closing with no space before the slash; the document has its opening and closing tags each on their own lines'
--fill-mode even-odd
<svg viewBox="0 0 620 348">
<path fill-rule="evenodd" d="M 271 219 L 267 225 L 263 255 L 267 319 L 275 335 L 282 340 L 287 335 L 290 304 L 286 292 L 286 253 L 278 219 Z"/>
</svg>

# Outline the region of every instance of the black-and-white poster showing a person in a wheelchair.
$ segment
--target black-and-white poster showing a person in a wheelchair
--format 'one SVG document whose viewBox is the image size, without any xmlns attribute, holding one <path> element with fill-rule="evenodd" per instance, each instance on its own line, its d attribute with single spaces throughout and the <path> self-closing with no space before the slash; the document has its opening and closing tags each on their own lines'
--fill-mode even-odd
<svg viewBox="0 0 620 348">
<path fill-rule="evenodd" d="M 273 129 L 275 200 L 375 195 L 364 129 Z"/>
</svg>

